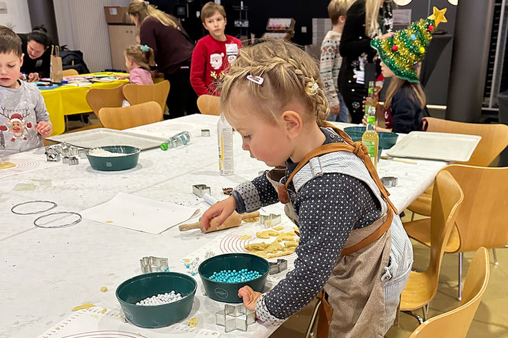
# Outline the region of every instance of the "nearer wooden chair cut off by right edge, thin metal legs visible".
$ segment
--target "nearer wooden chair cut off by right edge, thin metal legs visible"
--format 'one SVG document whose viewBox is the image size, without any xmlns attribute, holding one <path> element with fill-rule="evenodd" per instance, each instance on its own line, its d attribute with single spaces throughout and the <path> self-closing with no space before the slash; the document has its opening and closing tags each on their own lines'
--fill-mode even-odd
<svg viewBox="0 0 508 338">
<path fill-rule="evenodd" d="M 463 253 L 481 246 L 494 249 L 508 244 L 508 167 L 449 165 L 441 169 L 454 176 L 464 193 L 463 205 L 447 242 L 446 253 L 458 253 L 458 299 L 462 297 Z M 406 222 L 409 237 L 430 246 L 429 219 Z M 496 252 L 494 260 L 497 264 Z"/>
</svg>

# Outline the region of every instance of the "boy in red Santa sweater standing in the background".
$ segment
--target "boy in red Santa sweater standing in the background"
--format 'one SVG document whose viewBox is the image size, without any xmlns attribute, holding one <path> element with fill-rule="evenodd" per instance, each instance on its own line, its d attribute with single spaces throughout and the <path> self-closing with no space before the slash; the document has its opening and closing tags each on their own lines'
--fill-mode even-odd
<svg viewBox="0 0 508 338">
<path fill-rule="evenodd" d="M 240 40 L 224 34 L 226 13 L 223 6 L 210 1 L 201 9 L 203 27 L 210 32 L 199 39 L 190 65 L 190 83 L 198 96 L 210 94 L 219 96 L 218 83 L 230 65 L 236 61 Z"/>
</svg>

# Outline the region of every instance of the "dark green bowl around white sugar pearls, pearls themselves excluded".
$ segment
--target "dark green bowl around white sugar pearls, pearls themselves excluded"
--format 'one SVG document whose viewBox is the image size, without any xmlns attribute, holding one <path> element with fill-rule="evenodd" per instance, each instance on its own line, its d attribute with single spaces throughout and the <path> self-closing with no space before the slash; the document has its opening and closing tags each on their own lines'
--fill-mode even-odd
<svg viewBox="0 0 508 338">
<path fill-rule="evenodd" d="M 192 309 L 197 283 L 183 273 L 145 273 L 126 280 L 116 288 L 116 299 L 120 302 L 125 317 L 141 328 L 161 328 L 181 321 Z M 146 297 L 174 290 L 183 299 L 169 304 L 136 305 Z"/>
</svg>

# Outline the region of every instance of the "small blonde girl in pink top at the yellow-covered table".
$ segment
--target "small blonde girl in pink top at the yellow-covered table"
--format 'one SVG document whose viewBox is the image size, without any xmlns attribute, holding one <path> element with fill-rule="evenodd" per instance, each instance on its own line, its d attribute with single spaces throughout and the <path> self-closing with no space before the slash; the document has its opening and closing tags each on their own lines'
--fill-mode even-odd
<svg viewBox="0 0 508 338">
<path fill-rule="evenodd" d="M 125 67 L 129 71 L 130 83 L 153 85 L 150 67 L 155 65 L 154 50 L 148 45 L 130 45 L 125 49 Z"/>
</svg>

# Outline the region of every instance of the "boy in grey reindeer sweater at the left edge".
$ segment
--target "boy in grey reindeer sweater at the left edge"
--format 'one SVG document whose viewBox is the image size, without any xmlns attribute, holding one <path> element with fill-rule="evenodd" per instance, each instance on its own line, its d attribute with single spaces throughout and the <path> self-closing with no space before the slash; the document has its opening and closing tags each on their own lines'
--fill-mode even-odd
<svg viewBox="0 0 508 338">
<path fill-rule="evenodd" d="M 0 156 L 43 146 L 53 127 L 34 85 L 19 80 L 21 39 L 0 25 Z"/>
</svg>

